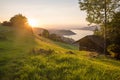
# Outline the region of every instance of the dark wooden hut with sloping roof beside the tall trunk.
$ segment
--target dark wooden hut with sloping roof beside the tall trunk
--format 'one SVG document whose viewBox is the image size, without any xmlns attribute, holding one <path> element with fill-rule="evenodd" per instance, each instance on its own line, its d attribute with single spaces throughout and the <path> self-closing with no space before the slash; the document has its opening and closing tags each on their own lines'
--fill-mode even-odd
<svg viewBox="0 0 120 80">
<path fill-rule="evenodd" d="M 75 43 L 79 44 L 79 50 L 96 51 L 101 53 L 104 51 L 104 39 L 96 35 L 85 36 Z"/>
</svg>

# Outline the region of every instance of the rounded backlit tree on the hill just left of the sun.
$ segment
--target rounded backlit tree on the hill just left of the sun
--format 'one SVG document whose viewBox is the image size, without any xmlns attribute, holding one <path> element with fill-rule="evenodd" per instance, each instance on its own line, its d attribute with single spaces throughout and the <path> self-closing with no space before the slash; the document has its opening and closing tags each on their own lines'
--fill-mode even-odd
<svg viewBox="0 0 120 80">
<path fill-rule="evenodd" d="M 17 14 L 10 19 L 11 25 L 22 27 L 28 25 L 28 20 L 22 14 Z"/>
</svg>

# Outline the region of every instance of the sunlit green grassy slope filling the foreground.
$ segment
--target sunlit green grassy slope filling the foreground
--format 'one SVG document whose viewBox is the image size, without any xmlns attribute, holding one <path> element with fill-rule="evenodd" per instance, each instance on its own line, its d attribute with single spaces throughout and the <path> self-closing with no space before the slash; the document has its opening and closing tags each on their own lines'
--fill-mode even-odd
<svg viewBox="0 0 120 80">
<path fill-rule="evenodd" d="M 119 61 L 90 58 L 89 52 L 26 30 L 0 26 L 0 36 L 0 80 L 120 80 Z M 54 52 L 45 55 L 40 48 Z"/>
</svg>

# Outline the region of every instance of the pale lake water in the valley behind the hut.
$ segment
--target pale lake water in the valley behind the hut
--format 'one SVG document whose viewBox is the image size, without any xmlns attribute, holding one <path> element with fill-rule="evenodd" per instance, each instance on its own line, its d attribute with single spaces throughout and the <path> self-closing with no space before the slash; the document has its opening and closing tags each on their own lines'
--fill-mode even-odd
<svg viewBox="0 0 120 80">
<path fill-rule="evenodd" d="M 90 31 L 90 30 L 71 30 L 71 31 L 76 34 L 75 35 L 64 35 L 64 37 L 72 38 L 76 41 L 87 35 L 93 35 L 93 31 Z"/>
</svg>

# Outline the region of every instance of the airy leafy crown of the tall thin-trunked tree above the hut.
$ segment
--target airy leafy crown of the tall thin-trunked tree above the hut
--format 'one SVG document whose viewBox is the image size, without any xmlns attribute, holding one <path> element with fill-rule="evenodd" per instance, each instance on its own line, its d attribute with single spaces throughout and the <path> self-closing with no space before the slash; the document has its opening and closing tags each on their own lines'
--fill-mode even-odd
<svg viewBox="0 0 120 80">
<path fill-rule="evenodd" d="M 119 8 L 119 0 L 79 0 L 80 9 L 87 12 L 86 20 L 91 23 L 104 24 L 105 13 L 107 22 L 111 21 Z"/>
</svg>

